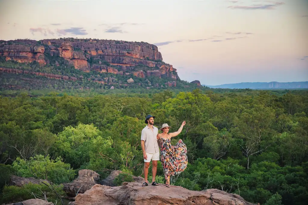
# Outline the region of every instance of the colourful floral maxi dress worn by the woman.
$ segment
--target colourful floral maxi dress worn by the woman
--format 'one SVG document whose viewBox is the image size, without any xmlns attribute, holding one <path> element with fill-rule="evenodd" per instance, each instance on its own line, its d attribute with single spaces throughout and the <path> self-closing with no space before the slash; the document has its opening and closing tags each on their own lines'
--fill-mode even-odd
<svg viewBox="0 0 308 205">
<path fill-rule="evenodd" d="M 175 146 L 170 143 L 170 138 L 160 138 L 160 161 L 163 165 L 165 179 L 178 175 L 187 167 L 187 148 L 180 139 Z"/>
</svg>

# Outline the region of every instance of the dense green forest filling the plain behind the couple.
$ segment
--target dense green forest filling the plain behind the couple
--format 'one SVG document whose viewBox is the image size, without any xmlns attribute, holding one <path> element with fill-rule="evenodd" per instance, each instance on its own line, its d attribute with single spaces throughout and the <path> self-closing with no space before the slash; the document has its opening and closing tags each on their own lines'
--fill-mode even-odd
<svg viewBox="0 0 308 205">
<path fill-rule="evenodd" d="M 172 143 L 184 141 L 189 164 L 177 180 L 172 178 L 173 184 L 190 190 L 217 188 L 253 203 L 306 204 L 308 92 L 241 91 L 1 96 L 0 160 L 7 165 L 0 168 L 30 176 L 13 147 L 39 143 L 38 157 L 59 157 L 54 163 L 61 169 L 50 170 L 50 177 L 61 176 L 54 179 L 58 183 L 71 181 L 72 170 L 83 168 L 103 179 L 115 169 L 141 175 L 140 133 L 144 117 L 152 114 L 155 125 L 168 123 L 170 132 L 187 122 Z M 163 182 L 160 163 L 157 174 Z"/>
</svg>

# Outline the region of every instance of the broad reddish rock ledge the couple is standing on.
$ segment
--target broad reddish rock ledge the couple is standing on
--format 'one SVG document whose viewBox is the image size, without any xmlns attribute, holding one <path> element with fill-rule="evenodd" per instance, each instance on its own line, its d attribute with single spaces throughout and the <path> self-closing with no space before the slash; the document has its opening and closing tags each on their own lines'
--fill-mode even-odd
<svg viewBox="0 0 308 205">
<path fill-rule="evenodd" d="M 183 187 L 141 187 L 142 183 L 124 182 L 119 187 L 95 184 L 91 189 L 75 197 L 75 205 L 253 205 L 241 196 L 217 189 L 190 191 Z"/>
</svg>

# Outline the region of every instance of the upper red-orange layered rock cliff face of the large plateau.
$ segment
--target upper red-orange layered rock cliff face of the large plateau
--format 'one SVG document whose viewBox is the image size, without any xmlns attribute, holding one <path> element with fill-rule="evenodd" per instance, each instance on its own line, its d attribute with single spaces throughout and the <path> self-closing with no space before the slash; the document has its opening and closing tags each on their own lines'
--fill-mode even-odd
<svg viewBox="0 0 308 205">
<path fill-rule="evenodd" d="M 84 72 L 149 76 L 180 80 L 172 65 L 162 62 L 157 46 L 144 42 L 91 39 L 44 39 L 0 41 L 0 56 L 21 63 L 46 64 L 51 57 L 63 57 Z M 174 86 L 174 84 L 172 84 Z"/>
</svg>

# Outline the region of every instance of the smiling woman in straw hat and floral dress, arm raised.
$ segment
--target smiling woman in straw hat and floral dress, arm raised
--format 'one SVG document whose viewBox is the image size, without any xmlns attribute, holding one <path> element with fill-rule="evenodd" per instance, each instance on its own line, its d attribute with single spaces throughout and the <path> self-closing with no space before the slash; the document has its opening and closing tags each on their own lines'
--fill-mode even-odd
<svg viewBox="0 0 308 205">
<path fill-rule="evenodd" d="M 170 177 L 180 174 L 187 167 L 187 149 L 186 145 L 180 139 L 175 146 L 171 145 L 171 137 L 175 137 L 181 133 L 186 122 L 184 121 L 177 132 L 169 132 L 170 126 L 163 124 L 160 128 L 163 133 L 157 135 L 160 140 L 160 161 L 163 165 L 164 175 L 166 179 L 166 187 L 170 187 Z"/>
</svg>

